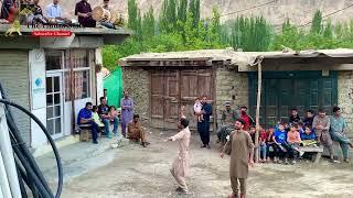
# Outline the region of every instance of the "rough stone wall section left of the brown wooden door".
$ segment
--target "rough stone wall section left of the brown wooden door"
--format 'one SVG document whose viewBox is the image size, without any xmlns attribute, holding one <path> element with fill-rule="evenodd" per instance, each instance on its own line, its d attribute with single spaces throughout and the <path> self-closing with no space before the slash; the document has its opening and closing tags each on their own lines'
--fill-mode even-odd
<svg viewBox="0 0 353 198">
<path fill-rule="evenodd" d="M 135 101 L 135 113 L 140 116 L 143 124 L 149 121 L 149 73 L 138 67 L 122 67 L 124 89 L 129 91 Z"/>
</svg>

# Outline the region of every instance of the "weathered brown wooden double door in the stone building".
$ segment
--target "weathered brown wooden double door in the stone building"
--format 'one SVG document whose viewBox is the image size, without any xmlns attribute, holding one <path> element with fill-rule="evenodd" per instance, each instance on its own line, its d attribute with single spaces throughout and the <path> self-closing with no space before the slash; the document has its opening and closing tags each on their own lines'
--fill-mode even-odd
<svg viewBox="0 0 353 198">
<path fill-rule="evenodd" d="M 180 108 L 185 106 L 190 128 L 196 129 L 193 105 L 196 97 L 213 99 L 212 69 L 163 69 L 151 72 L 151 125 L 176 129 Z"/>
</svg>

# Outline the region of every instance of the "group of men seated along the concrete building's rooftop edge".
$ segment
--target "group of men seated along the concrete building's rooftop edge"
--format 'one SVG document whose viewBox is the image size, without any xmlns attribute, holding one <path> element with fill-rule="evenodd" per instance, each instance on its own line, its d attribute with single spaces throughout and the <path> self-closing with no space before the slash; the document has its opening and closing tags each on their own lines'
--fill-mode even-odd
<svg viewBox="0 0 353 198">
<path fill-rule="evenodd" d="M 72 20 L 64 18 L 63 9 L 58 4 L 60 0 L 53 0 L 53 3 L 46 6 L 43 13 L 40 0 L 21 0 L 18 8 L 14 0 L 3 0 L 0 19 L 7 20 L 9 23 L 14 21 L 17 14 L 20 16 L 21 24 L 60 24 L 72 25 Z M 109 0 L 104 0 L 103 9 L 110 11 Z M 78 16 L 79 25 L 84 28 L 96 28 L 96 21 L 92 18 L 92 8 L 87 0 L 76 3 L 75 15 Z M 100 22 L 100 25 L 115 29 L 110 22 Z"/>
</svg>

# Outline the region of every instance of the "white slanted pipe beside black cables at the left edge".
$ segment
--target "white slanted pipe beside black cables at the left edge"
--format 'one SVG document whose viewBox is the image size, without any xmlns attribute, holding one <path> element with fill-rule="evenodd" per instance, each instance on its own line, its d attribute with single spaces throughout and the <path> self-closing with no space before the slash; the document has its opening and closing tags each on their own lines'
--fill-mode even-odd
<svg viewBox="0 0 353 198">
<path fill-rule="evenodd" d="M 0 95 L 0 99 L 2 97 Z M 9 129 L 8 129 L 8 124 L 4 116 L 4 109 L 2 106 L 0 107 L 0 140 L 1 140 L 0 150 L 2 154 L 4 168 L 7 172 L 12 198 L 21 198 L 22 197 L 21 189 L 18 180 L 19 176 L 15 170 L 13 150 L 11 147 Z"/>
</svg>

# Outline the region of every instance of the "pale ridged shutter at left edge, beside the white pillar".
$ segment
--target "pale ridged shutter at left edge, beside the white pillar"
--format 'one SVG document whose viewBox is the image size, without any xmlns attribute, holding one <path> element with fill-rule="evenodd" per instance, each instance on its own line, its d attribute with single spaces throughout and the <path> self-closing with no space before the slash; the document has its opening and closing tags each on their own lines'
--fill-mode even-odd
<svg viewBox="0 0 353 198">
<path fill-rule="evenodd" d="M 30 110 L 28 51 L 0 50 L 0 81 L 11 101 Z M 30 144 L 30 118 L 17 109 L 12 109 L 12 112 L 22 138 Z"/>
</svg>

